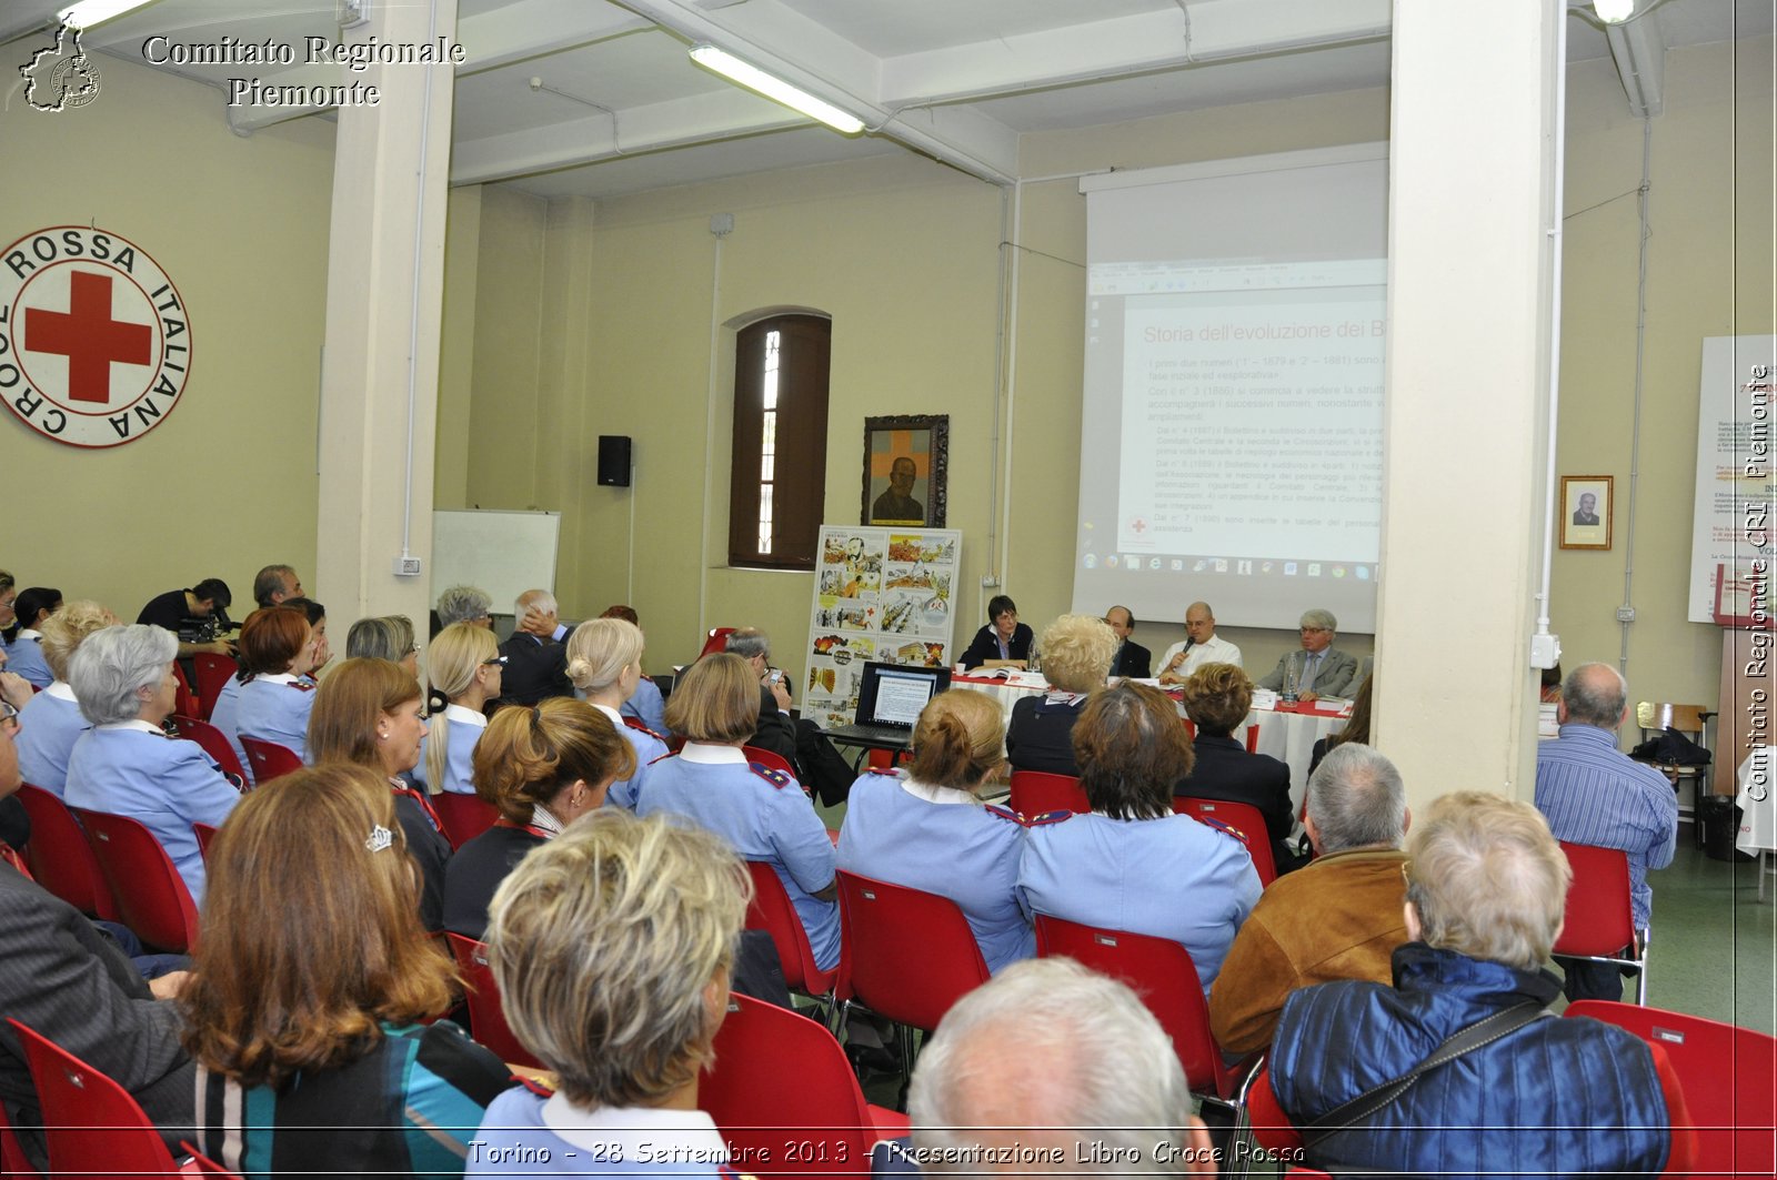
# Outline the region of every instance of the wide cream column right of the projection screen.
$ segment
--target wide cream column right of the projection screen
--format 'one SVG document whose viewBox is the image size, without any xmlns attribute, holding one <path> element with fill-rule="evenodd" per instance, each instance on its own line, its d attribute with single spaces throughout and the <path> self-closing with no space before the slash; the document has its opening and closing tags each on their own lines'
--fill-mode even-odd
<svg viewBox="0 0 1777 1180">
<path fill-rule="evenodd" d="M 1395 4 L 1375 741 L 1414 805 L 1534 793 L 1564 7 Z"/>
</svg>

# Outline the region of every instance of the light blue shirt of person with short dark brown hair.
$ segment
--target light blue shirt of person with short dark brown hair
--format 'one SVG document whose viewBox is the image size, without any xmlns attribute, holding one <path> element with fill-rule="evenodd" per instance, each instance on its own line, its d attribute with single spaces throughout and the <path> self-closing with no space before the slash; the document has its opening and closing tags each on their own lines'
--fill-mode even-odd
<svg viewBox="0 0 1777 1180">
<path fill-rule="evenodd" d="M 1171 938 L 1191 951 L 1205 995 L 1258 894 L 1246 844 L 1191 816 L 1038 825 L 1018 867 L 1027 910 Z"/>
</svg>

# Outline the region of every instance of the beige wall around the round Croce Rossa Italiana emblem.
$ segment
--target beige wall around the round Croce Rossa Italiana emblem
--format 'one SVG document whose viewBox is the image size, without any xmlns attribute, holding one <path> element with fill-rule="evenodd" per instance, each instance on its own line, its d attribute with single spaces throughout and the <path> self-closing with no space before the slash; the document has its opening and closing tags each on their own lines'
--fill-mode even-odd
<svg viewBox="0 0 1777 1180">
<path fill-rule="evenodd" d="M 5 416 L 0 567 L 128 620 L 206 576 L 251 604 L 261 565 L 315 572 L 332 124 L 240 139 L 217 91 L 112 57 L 101 69 L 100 96 L 59 114 L 7 87 L 0 242 L 96 222 L 153 254 L 190 315 L 190 379 L 160 427 L 110 450 Z"/>
</svg>

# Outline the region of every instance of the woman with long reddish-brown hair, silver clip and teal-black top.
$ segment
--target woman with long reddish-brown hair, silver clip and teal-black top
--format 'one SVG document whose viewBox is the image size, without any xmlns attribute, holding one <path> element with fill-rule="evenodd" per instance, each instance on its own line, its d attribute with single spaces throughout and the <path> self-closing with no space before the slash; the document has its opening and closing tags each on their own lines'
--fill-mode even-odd
<svg viewBox="0 0 1777 1180">
<path fill-rule="evenodd" d="M 457 1175 L 510 1070 L 439 1020 L 457 972 L 414 921 L 394 800 L 361 766 L 249 794 L 179 993 L 197 1146 L 229 1171 Z"/>
</svg>

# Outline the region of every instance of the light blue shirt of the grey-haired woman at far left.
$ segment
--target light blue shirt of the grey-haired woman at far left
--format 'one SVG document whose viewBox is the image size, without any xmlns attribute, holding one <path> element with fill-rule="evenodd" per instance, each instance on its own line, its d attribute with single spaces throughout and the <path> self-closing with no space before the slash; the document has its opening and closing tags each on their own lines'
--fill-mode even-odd
<svg viewBox="0 0 1777 1180">
<path fill-rule="evenodd" d="M 128 816 L 167 849 L 172 865 L 204 901 L 204 860 L 194 823 L 222 826 L 240 803 L 235 789 L 195 741 L 167 738 L 147 722 L 98 725 L 75 743 L 68 759 L 69 807 Z"/>
</svg>

